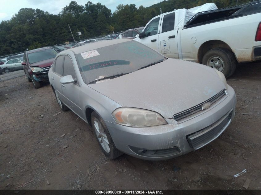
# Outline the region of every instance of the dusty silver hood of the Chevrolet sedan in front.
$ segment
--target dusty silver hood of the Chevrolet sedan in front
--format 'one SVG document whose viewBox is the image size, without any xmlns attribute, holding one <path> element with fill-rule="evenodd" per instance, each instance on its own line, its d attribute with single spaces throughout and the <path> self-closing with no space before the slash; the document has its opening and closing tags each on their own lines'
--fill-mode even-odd
<svg viewBox="0 0 261 195">
<path fill-rule="evenodd" d="M 123 107 L 152 110 L 165 118 L 201 104 L 225 88 L 212 68 L 176 59 L 88 86 Z"/>
</svg>

